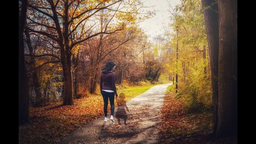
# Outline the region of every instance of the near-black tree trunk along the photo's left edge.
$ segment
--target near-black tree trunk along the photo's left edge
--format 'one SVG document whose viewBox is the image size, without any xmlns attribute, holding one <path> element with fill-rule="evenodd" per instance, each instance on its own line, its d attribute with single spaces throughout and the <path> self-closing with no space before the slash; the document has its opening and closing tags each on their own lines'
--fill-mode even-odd
<svg viewBox="0 0 256 144">
<path fill-rule="evenodd" d="M 29 123 L 28 77 L 25 65 L 23 31 L 27 13 L 27 1 L 22 1 L 19 12 L 19 125 Z"/>
</svg>

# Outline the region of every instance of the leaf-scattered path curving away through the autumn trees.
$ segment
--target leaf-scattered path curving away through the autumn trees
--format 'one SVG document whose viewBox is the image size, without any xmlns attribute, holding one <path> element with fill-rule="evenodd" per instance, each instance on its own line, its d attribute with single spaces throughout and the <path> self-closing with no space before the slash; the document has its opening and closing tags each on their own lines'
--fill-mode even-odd
<svg viewBox="0 0 256 144">
<path fill-rule="evenodd" d="M 162 84 L 151 87 L 126 103 L 127 109 L 115 109 L 123 116 L 114 117 L 115 124 L 104 123 L 104 116 L 73 131 L 59 143 L 157 143 L 157 124 L 167 86 Z M 115 116 L 114 114 L 114 116 Z M 126 119 L 127 124 L 124 124 Z"/>
</svg>

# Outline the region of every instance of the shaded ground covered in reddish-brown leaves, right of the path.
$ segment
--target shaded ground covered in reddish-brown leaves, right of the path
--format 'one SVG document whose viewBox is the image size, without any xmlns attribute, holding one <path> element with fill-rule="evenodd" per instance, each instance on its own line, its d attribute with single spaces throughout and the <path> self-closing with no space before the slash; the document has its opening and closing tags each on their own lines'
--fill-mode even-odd
<svg viewBox="0 0 256 144">
<path fill-rule="evenodd" d="M 159 143 L 237 143 L 237 138 L 213 139 L 213 112 L 189 113 L 175 97 L 173 87 L 167 89 L 158 127 Z"/>
</svg>

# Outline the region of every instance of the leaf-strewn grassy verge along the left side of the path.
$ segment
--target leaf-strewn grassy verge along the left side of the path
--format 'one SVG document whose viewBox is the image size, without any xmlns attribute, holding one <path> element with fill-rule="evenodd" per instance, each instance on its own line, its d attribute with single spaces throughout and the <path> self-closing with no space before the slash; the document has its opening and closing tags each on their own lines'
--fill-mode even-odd
<svg viewBox="0 0 256 144">
<path fill-rule="evenodd" d="M 155 85 L 126 86 L 126 89 L 117 92 L 125 93 L 129 101 Z M 75 99 L 74 106 L 62 106 L 61 102 L 55 102 L 49 106 L 30 108 L 29 115 L 30 124 L 19 126 L 19 143 L 57 143 L 77 127 L 102 116 L 103 100 L 101 95 L 90 95 Z"/>
</svg>

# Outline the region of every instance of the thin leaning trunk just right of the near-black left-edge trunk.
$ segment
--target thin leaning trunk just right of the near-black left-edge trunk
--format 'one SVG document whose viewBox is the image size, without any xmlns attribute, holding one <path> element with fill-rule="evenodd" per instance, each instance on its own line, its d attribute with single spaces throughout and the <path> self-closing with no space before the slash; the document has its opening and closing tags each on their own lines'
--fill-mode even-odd
<svg viewBox="0 0 256 144">
<path fill-rule="evenodd" d="M 26 29 L 25 29 L 24 32 L 25 32 L 26 39 L 27 39 L 29 54 L 34 55 L 29 32 Z M 36 94 L 35 95 L 35 106 L 38 106 L 40 104 L 41 100 L 42 100 L 42 93 L 41 93 L 41 85 L 40 85 L 38 75 L 37 75 L 37 72 L 36 72 L 36 64 L 35 64 L 35 57 L 34 56 L 31 56 L 31 69 L 32 69 L 32 81 L 33 81 L 33 84 L 34 84 L 35 94 Z"/>
</svg>

